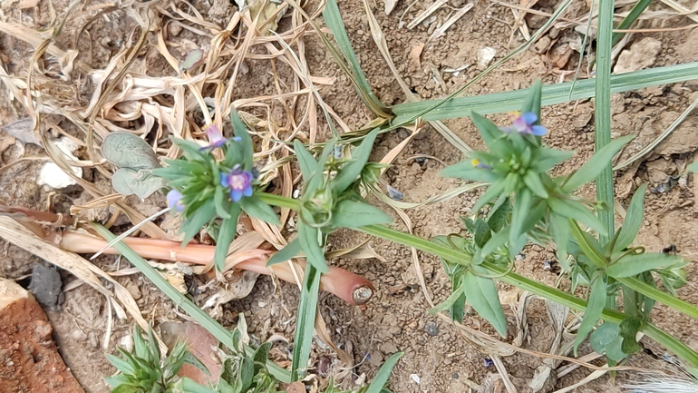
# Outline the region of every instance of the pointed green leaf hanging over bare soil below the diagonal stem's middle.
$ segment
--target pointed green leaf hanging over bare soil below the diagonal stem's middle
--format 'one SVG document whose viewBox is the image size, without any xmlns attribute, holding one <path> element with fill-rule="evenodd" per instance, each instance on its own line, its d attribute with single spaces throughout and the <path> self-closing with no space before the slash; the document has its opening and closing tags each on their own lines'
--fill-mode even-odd
<svg viewBox="0 0 698 393">
<path fill-rule="evenodd" d="M 480 317 L 487 319 L 501 337 L 506 338 L 507 319 L 499 303 L 499 294 L 494 281 L 476 276 L 471 272 L 463 276 L 463 281 L 465 297 L 472 308 L 478 311 Z"/>
</svg>

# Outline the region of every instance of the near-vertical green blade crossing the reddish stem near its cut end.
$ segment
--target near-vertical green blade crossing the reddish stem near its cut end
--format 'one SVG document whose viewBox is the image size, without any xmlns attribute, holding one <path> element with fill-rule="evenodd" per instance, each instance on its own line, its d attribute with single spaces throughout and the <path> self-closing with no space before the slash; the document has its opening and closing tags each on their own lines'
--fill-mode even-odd
<svg viewBox="0 0 698 393">
<path fill-rule="evenodd" d="M 315 244 L 317 244 L 315 242 Z M 318 246 L 319 247 L 319 246 Z M 307 252 L 307 251 L 306 251 Z M 305 265 L 305 277 L 301 287 L 301 297 L 298 300 L 298 317 L 296 323 L 296 338 L 291 365 L 291 378 L 298 380 L 305 377 L 305 368 L 310 358 L 310 348 L 313 344 L 313 328 L 315 327 L 315 311 L 317 310 L 317 292 L 320 290 L 321 273 L 311 263 Z"/>
</svg>

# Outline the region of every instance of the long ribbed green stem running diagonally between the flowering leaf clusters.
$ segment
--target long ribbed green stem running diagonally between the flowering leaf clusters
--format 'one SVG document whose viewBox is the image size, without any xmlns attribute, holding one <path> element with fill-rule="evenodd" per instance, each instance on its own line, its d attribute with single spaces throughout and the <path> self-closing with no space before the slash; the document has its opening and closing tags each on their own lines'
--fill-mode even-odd
<svg viewBox="0 0 698 393">
<path fill-rule="evenodd" d="M 292 200 L 283 196 L 279 195 L 272 195 L 272 194 L 266 194 L 266 193 L 260 193 L 260 199 L 263 201 L 266 201 L 267 203 L 271 205 L 275 205 L 278 207 L 285 207 L 289 209 L 298 209 L 298 201 Z M 407 247 L 414 247 L 417 250 L 423 251 L 423 252 L 428 252 L 432 255 L 435 255 L 437 257 L 441 257 L 444 260 L 451 260 L 456 263 L 461 263 L 461 264 L 470 264 L 470 256 L 464 253 L 461 253 L 459 251 L 455 251 L 451 248 L 441 246 L 439 244 L 433 243 L 431 241 L 427 241 L 425 239 L 422 239 L 418 236 L 414 236 L 410 233 L 405 233 L 402 231 L 396 231 L 387 227 L 384 227 L 382 225 L 367 225 L 364 227 L 358 228 L 358 231 L 362 231 L 366 234 L 375 236 L 376 238 L 381 238 L 386 241 L 393 241 L 398 244 L 402 244 L 403 246 Z M 562 290 L 557 290 L 556 288 L 549 287 L 548 285 L 541 284 L 540 282 L 536 280 L 530 280 L 527 279 L 526 277 L 520 276 L 519 274 L 516 274 L 514 272 L 507 272 L 506 269 L 493 265 L 490 262 L 484 261 L 482 264 L 480 264 L 481 267 L 490 270 L 490 273 L 492 275 L 498 275 L 499 280 L 502 282 L 506 282 L 510 285 L 513 285 L 517 288 L 520 288 L 522 290 L 528 290 L 529 292 L 540 296 L 541 298 L 556 301 L 559 304 L 562 304 L 563 306 L 569 307 L 570 309 L 576 309 L 578 311 L 584 312 L 587 309 L 587 301 L 581 300 L 576 298 L 575 296 L 563 292 Z M 634 290 L 638 290 L 638 292 L 643 293 L 643 290 L 645 288 L 643 285 L 646 285 L 644 283 L 637 283 L 634 280 L 627 280 L 624 279 L 622 281 L 625 285 L 630 283 L 631 285 L 628 285 L 628 287 L 633 288 Z M 634 288 L 635 287 L 635 288 Z M 649 287 L 649 286 L 647 286 Z M 652 289 L 652 287 L 649 287 Z M 654 290 L 654 289 L 652 289 Z M 657 290 L 660 298 L 664 299 L 664 296 L 666 295 L 664 292 L 661 292 Z M 654 292 L 651 292 L 651 295 L 654 297 Z M 656 298 L 654 298 L 656 299 Z M 685 303 L 685 302 L 683 302 Z M 669 304 L 669 303 L 667 303 Z M 673 304 L 673 303 L 672 303 Z M 671 305 L 671 304 L 669 304 Z M 682 305 L 683 306 L 683 305 Z M 683 307 L 679 308 L 683 309 Z M 689 314 L 691 315 L 691 314 Z M 698 318 L 698 317 L 696 317 Z M 616 323 L 619 324 L 625 319 L 625 314 L 618 312 L 614 309 L 604 309 L 604 311 L 601 313 L 601 319 L 604 319 L 608 322 L 611 323 Z M 686 363 L 691 365 L 693 368 L 698 368 L 698 353 L 693 351 L 693 349 L 688 348 L 683 342 L 681 342 L 678 339 L 675 339 L 673 336 L 669 335 L 668 333 L 664 332 L 664 330 L 657 328 L 651 323 L 646 323 L 642 331 L 649 337 L 650 339 L 654 339 L 657 343 L 661 344 L 664 346 L 664 348 L 669 349 L 670 351 L 674 352 L 676 356 L 680 357 L 683 359 Z"/>
</svg>

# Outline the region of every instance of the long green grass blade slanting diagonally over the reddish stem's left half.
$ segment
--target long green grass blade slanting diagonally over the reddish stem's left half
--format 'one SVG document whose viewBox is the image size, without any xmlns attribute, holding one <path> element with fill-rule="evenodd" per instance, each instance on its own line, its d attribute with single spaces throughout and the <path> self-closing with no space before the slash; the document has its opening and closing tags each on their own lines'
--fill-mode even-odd
<svg viewBox="0 0 698 393">
<path fill-rule="evenodd" d="M 113 233 L 111 233 L 111 231 L 98 223 L 92 222 L 91 225 L 92 229 L 97 231 L 107 241 L 111 241 L 116 237 Z M 221 326 L 216 319 L 211 318 L 208 313 L 202 309 L 199 309 L 199 306 L 194 304 L 186 296 L 179 293 L 179 290 L 172 287 L 167 279 L 162 277 L 157 270 L 153 269 L 148 262 L 143 260 L 141 256 L 136 253 L 136 251 L 131 250 L 131 247 L 127 246 L 126 243 L 119 241 L 114 244 L 114 248 L 121 252 L 121 255 L 126 257 L 127 260 L 130 260 L 133 266 L 141 270 L 143 275 L 147 277 L 148 280 L 152 281 L 152 283 L 155 284 L 159 290 L 162 290 L 162 292 L 164 292 L 165 295 L 167 295 L 175 304 L 177 304 L 180 309 L 184 309 L 192 318 L 196 319 L 201 326 L 207 329 L 208 332 L 211 333 L 213 337 L 218 339 L 218 341 L 220 341 L 223 345 L 229 349 L 233 349 L 232 339 L 230 339 L 231 333 L 228 331 L 228 329 Z M 255 353 L 255 350 L 246 346 L 245 352 L 247 355 L 252 356 Z M 271 375 L 273 375 L 274 378 L 278 379 L 279 381 L 283 383 L 291 383 L 291 376 L 289 372 L 284 368 L 276 366 L 276 363 L 267 361 L 267 369 Z"/>
</svg>

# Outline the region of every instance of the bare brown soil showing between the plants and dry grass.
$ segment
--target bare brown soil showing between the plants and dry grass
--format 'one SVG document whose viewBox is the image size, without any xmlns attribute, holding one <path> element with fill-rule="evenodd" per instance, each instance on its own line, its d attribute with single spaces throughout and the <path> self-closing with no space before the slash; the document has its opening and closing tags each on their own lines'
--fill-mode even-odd
<svg viewBox="0 0 698 393">
<path fill-rule="evenodd" d="M 27 8 L 21 12 L 12 1 L 9 11 L 5 12 L 6 22 L 22 23 L 31 28 L 39 28 L 48 21 L 48 2 L 40 2 L 37 7 Z M 65 2 L 58 2 L 65 6 Z M 235 9 L 227 0 L 214 2 L 216 9 Z M 383 58 L 370 33 L 364 6 L 361 1 L 347 0 L 340 3 L 340 9 L 354 51 L 358 55 L 364 72 L 376 95 L 383 103 L 401 103 L 404 100 L 399 85 L 393 74 L 385 65 Z M 688 1 L 682 2 L 691 7 Z M 208 21 L 224 25 L 227 20 L 214 14 L 206 2 L 193 3 Z M 457 90 L 482 71 L 478 65 L 478 52 L 484 47 L 496 50 L 495 59 L 499 59 L 510 50 L 522 43 L 517 32 L 512 32 L 515 20 L 511 9 L 505 5 L 478 1 L 473 9 L 453 25 L 443 36 L 427 42 L 434 25 L 439 25 L 451 13 L 452 7 L 464 5 L 461 0 L 452 0 L 434 15 L 436 19 L 431 25 L 420 24 L 412 30 L 401 25 L 402 21 L 409 23 L 415 15 L 431 5 L 431 2 L 418 0 L 408 10 L 412 2 L 399 2 L 391 15 L 383 12 L 383 2 L 371 6 L 374 15 L 383 28 L 393 61 L 405 83 L 422 99 L 444 97 Z M 540 0 L 534 9 L 551 12 L 557 3 L 553 0 Z M 653 5 L 654 6 L 654 5 Z M 5 6 L 4 6 L 5 8 Z M 306 7 L 315 9 L 315 4 Z M 652 7 L 651 7 L 652 8 Z M 577 2 L 568 12 L 569 17 L 577 17 L 588 13 L 585 2 Z M 208 15 L 210 14 L 210 15 Z M 122 15 L 122 14 L 121 14 Z M 225 15 L 225 14 L 224 14 Z M 539 17 L 528 15 L 528 25 L 541 25 Z M 68 26 L 82 25 L 84 21 L 70 20 Z M 285 21 L 279 24 L 283 31 Z M 668 28 L 687 25 L 683 17 L 656 19 L 643 22 L 642 28 Z M 104 43 L 118 42 L 126 38 L 133 27 L 130 19 L 125 16 L 110 15 L 98 18 L 81 35 L 80 46 L 92 43 L 89 57 L 82 53 L 82 61 L 92 64 L 94 68 L 102 68 L 106 60 L 113 54 L 109 45 Z M 64 29 L 58 38 L 59 44 L 70 46 L 74 39 L 74 29 Z M 189 32 L 182 33 L 183 39 L 189 38 Z M 193 34 L 191 34 L 193 35 Z M 658 54 L 651 66 L 688 63 L 698 61 L 698 29 L 677 30 L 635 34 L 626 48 L 642 38 L 651 36 L 657 40 Z M 536 78 L 542 78 L 547 84 L 569 81 L 577 68 L 579 54 L 574 52 L 569 43 L 578 38 L 572 28 L 554 28 L 544 35 L 544 39 L 532 49 L 520 54 L 515 59 L 495 70 L 480 83 L 473 85 L 466 93 L 470 95 L 496 93 L 523 88 Z M 91 41 L 86 41 L 86 40 Z M 411 55 L 412 49 L 425 44 L 419 62 Z M 89 46 L 89 45 L 88 45 Z M 28 66 L 31 48 L 8 34 L 0 33 L 2 47 L 2 63 L 10 73 L 18 73 Z M 639 50 L 639 48 L 638 48 Z M 569 53 L 572 51 L 572 53 Z M 567 61 L 565 60 L 567 56 Z M 334 76 L 333 85 L 321 89 L 320 93 L 325 102 L 334 109 L 340 118 L 350 127 L 358 128 L 369 122 L 371 113 L 364 107 L 358 95 L 348 80 L 342 74 L 325 46 L 315 35 L 305 37 L 305 57 L 311 74 L 316 76 Z M 92 62 L 92 63 L 90 63 Z M 469 67 L 456 75 L 447 73 L 446 69 L 455 69 L 463 65 Z M 270 67 L 265 60 L 247 61 L 248 72 L 240 79 L 235 94 L 239 97 L 258 96 L 275 91 L 275 81 L 269 77 Z M 158 75 L 167 73 L 168 65 L 157 54 L 149 53 L 148 73 Z M 587 76 L 587 61 L 582 64 L 581 76 Z M 290 74 L 284 64 L 276 64 L 276 73 L 280 80 Z M 618 93 L 613 96 L 613 130 L 614 136 L 634 133 L 637 138 L 626 147 L 619 162 L 638 152 L 648 142 L 662 133 L 693 100 L 698 91 L 695 81 L 648 88 L 630 93 Z M 8 94 L 2 94 L 0 100 L 0 123 L 12 123 L 24 117 L 15 103 L 8 101 Z M 274 120 L 280 124 L 286 123 L 285 113 L 276 107 L 272 112 Z M 503 117 L 502 117 L 503 118 Z M 594 150 L 594 105 L 590 100 L 575 103 L 554 105 L 544 108 L 542 122 L 550 133 L 545 139 L 549 145 L 560 149 L 575 150 L 577 154 L 564 167 L 556 168 L 557 172 L 574 171 L 590 157 Z M 318 123 L 325 124 L 324 119 Z M 482 142 L 468 119 L 458 119 L 445 122 L 451 130 L 460 136 L 474 149 L 481 148 Z M 639 240 L 648 251 L 661 251 L 674 244 L 686 259 L 691 260 L 687 267 L 689 284 L 679 290 L 684 300 L 698 302 L 698 280 L 694 261 L 698 259 L 698 205 L 696 204 L 696 185 L 693 176 L 687 175 L 685 166 L 693 161 L 693 153 L 698 150 L 698 114 L 690 115 L 686 121 L 667 140 L 657 146 L 654 152 L 622 171 L 616 172 L 616 194 L 620 203 L 627 206 L 629 196 L 642 182 L 650 182 L 650 191 L 646 195 L 645 222 Z M 325 127 L 324 139 L 329 135 Z M 373 159 L 379 160 L 402 142 L 409 133 L 398 130 L 383 134 L 373 151 Z M 0 138 L 8 138 L 0 133 Z M 0 143 L 1 145 L 2 143 Z M 23 150 L 25 148 L 25 151 Z M 13 162 L 24 155 L 40 154 L 40 148 L 17 142 L 2 153 L 3 162 Z M 438 176 L 443 165 L 460 161 L 462 156 L 439 133 L 426 127 L 418 134 L 394 162 L 393 168 L 386 173 L 386 181 L 394 188 L 404 192 L 404 201 L 417 202 L 445 192 L 457 186 L 460 182 L 444 179 Z M 56 193 L 47 192 L 35 185 L 41 163 L 24 162 L 9 171 L 0 172 L 0 200 L 9 205 L 23 205 L 34 209 L 44 209 L 48 198 L 52 198 L 54 206 L 70 206 L 71 202 L 80 196 L 79 190 L 59 190 Z M 87 172 L 90 172 L 89 170 Z M 90 176 L 88 173 L 85 176 Z M 587 185 L 582 191 L 586 196 L 592 196 L 593 185 Z M 436 235 L 459 232 L 459 217 L 470 213 L 470 206 L 477 200 L 479 192 L 462 194 L 449 201 L 407 211 L 413 223 L 415 234 L 424 238 Z M 164 206 L 163 200 L 154 201 Z M 138 202 L 134 207 L 153 209 L 152 201 L 142 206 Z M 392 211 L 383 206 L 386 211 Z M 66 209 L 67 210 L 67 209 Z M 146 213 L 145 211 L 143 211 Z M 146 213 L 150 214 L 150 213 Z M 400 221 L 395 215 L 396 222 Z M 620 218 L 618 218 L 620 220 Z M 397 228 L 405 230 L 402 224 Z M 330 247 L 344 248 L 353 246 L 364 240 L 364 235 L 352 231 L 338 231 L 330 240 Z M 440 261 L 430 255 L 418 254 L 419 266 L 412 264 L 411 251 L 388 241 L 371 240 L 370 245 L 384 261 L 381 260 L 346 260 L 338 259 L 333 263 L 364 275 L 377 288 L 375 298 L 366 309 L 357 309 L 345 304 L 330 295 L 322 295 L 320 311 L 327 324 L 328 332 L 339 348 L 346 350 L 357 365 L 354 378 L 366 374 L 373 378 L 375 372 L 383 364 L 383 360 L 397 351 L 405 355 L 393 371 L 391 388 L 394 392 L 465 392 L 472 388 L 478 391 L 478 385 L 497 371 L 488 366 L 482 353 L 460 333 L 451 323 L 431 315 L 428 310 L 428 297 L 434 302 L 445 300 L 450 293 L 450 282 Z M 0 242 L 0 276 L 20 279 L 29 274 L 34 263 L 38 260 L 13 245 Z M 520 274 L 548 284 L 554 284 L 559 270 L 547 270 L 544 261 L 555 265 L 553 251 L 533 246 L 524 251 L 526 258 L 520 260 L 516 270 Z M 98 260 L 103 270 L 115 270 L 118 263 L 112 257 Z M 417 270 L 419 268 L 419 270 Z M 428 293 L 422 292 L 420 275 L 426 281 Z M 121 284 L 137 293 L 137 301 L 147 319 L 156 323 L 168 320 L 180 320 L 175 307 L 161 295 L 150 282 L 140 275 L 119 278 Z M 70 280 L 68 280 L 70 281 Z M 563 279 L 563 287 L 569 286 L 568 280 Z M 499 284 L 502 297 L 519 295 L 518 291 L 507 285 Z M 210 291 L 197 295 L 197 300 L 203 302 Z M 134 296 L 136 298 L 136 296 Z M 260 278 L 254 290 L 243 300 L 230 301 L 223 307 L 219 320 L 224 325 L 234 326 L 239 312 L 244 312 L 250 333 L 257 339 L 268 339 L 277 333 L 287 339 L 293 338 L 295 328 L 297 289 L 286 283 L 278 283 L 267 277 Z M 509 318 L 509 342 L 514 329 L 514 315 L 505 304 L 505 312 Z M 102 382 L 102 377 L 110 375 L 113 368 L 104 358 L 102 340 L 106 332 L 107 309 L 104 300 L 98 292 L 83 285 L 65 294 L 65 302 L 61 311 L 47 311 L 53 324 L 54 337 L 61 349 L 63 359 L 73 370 L 76 378 L 85 391 L 90 393 L 108 391 Z M 465 325 L 494 333 L 486 322 L 480 320 L 474 312 L 469 312 Z M 657 306 L 654 311 L 654 321 L 660 327 L 683 339 L 691 348 L 698 350 L 698 335 L 695 324 L 690 319 L 674 311 Z M 552 329 L 548 316 L 539 301 L 534 301 L 528 310 L 529 337 L 524 340 L 523 347 L 547 352 L 552 340 Z M 112 351 L 116 343 L 128 334 L 130 323 L 118 322 L 112 329 L 108 351 Z M 655 354 L 664 354 L 664 350 L 647 343 Z M 584 348 L 582 353 L 591 349 Z M 289 358 L 289 348 L 278 345 L 277 360 L 283 362 Z M 334 353 L 324 344 L 317 342 L 313 359 L 336 359 Z M 324 360 L 324 361 L 325 361 Z M 502 359 L 510 377 L 519 392 L 530 391 L 528 382 L 533 378 L 536 369 L 541 366 L 542 359 L 529 355 L 516 354 Z M 629 365 L 638 367 L 667 369 L 676 372 L 676 368 L 668 363 L 654 359 L 644 353 L 632 356 Z M 323 366 L 324 368 L 325 366 Z M 338 372 L 339 368 L 330 368 L 326 373 Z M 565 378 L 557 380 L 555 388 L 565 388 L 582 378 L 590 371 L 577 369 Z M 629 374 L 620 372 L 618 378 L 627 378 Z M 344 382 L 351 384 L 351 378 Z M 553 387 L 550 387 L 553 388 Z M 489 390 L 480 390 L 489 391 Z M 499 390 L 495 390 L 499 391 Z M 552 391 L 552 390 L 548 390 Z M 604 376 L 594 382 L 577 388 L 579 392 L 619 391 L 616 381 Z"/>
</svg>

